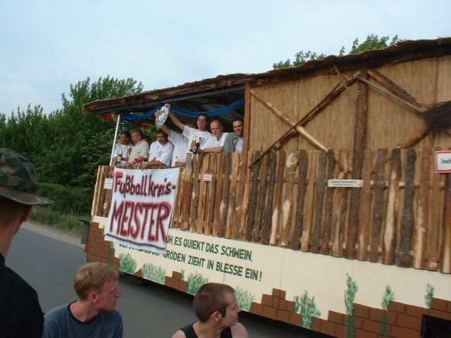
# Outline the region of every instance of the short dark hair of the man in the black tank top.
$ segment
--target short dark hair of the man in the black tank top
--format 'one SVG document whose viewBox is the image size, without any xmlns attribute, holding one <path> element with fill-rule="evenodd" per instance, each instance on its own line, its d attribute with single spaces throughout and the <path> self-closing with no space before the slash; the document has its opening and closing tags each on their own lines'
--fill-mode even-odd
<svg viewBox="0 0 451 338">
<path fill-rule="evenodd" d="M 194 313 L 201 323 L 209 320 L 211 313 L 219 311 L 221 315 L 226 315 L 228 301 L 226 294 L 233 294 L 235 289 L 227 284 L 207 283 L 200 287 L 194 296 Z"/>
</svg>

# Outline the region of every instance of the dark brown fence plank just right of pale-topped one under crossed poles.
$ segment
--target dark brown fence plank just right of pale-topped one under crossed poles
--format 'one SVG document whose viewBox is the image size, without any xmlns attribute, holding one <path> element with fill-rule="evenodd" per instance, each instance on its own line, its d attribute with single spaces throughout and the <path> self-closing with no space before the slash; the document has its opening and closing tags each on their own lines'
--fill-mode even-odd
<svg viewBox="0 0 451 338">
<path fill-rule="evenodd" d="M 299 151 L 299 182 L 297 185 L 297 204 L 295 230 L 291 240 L 291 249 L 298 250 L 301 244 L 301 234 L 304 227 L 304 204 L 307 192 L 307 168 L 309 167 L 309 157 L 307 151 Z"/>
</svg>

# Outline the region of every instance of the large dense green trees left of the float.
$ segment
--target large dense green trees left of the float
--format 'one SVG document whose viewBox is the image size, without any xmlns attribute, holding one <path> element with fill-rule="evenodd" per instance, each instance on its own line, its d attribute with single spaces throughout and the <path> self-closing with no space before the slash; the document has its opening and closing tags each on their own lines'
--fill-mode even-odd
<svg viewBox="0 0 451 338">
<path fill-rule="evenodd" d="M 40 182 L 92 187 L 98 165 L 108 164 L 115 125 L 96 114 L 82 114 L 82 105 L 142 92 L 141 82 L 89 77 L 70 84 L 62 108 L 49 115 L 41 106 L 20 107 L 10 118 L 0 114 L 0 145 L 35 164 Z"/>
</svg>

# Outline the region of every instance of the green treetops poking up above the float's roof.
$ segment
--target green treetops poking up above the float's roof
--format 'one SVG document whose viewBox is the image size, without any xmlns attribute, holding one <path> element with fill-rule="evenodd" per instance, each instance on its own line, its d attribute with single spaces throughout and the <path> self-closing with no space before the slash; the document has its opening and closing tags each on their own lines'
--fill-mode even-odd
<svg viewBox="0 0 451 338">
<path fill-rule="evenodd" d="M 369 51 L 371 49 L 384 49 L 388 46 L 393 46 L 397 42 L 402 41 L 397 35 L 395 35 L 391 40 L 389 36 L 378 37 L 377 35 L 371 34 L 367 35 L 364 42 L 359 44 L 359 39 L 356 38 L 352 42 L 351 51 L 349 54 L 359 54 L 362 51 Z M 340 51 L 338 52 L 339 56 L 345 55 L 345 46 L 342 46 Z M 321 58 L 325 58 L 326 54 L 316 54 L 312 51 L 298 51 L 295 54 L 295 60 L 291 61 L 289 58 L 286 61 L 279 61 L 278 63 L 273 64 L 273 69 L 280 68 L 290 68 L 296 67 L 297 65 L 303 65 L 304 63 L 311 60 L 321 60 Z"/>
</svg>

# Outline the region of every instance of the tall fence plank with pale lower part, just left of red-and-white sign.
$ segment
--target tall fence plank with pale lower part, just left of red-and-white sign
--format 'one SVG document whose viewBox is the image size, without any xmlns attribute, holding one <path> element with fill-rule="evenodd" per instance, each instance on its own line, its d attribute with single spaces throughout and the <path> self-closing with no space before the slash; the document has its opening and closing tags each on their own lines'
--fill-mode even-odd
<svg viewBox="0 0 451 338">
<path fill-rule="evenodd" d="M 414 240 L 414 268 L 423 269 L 426 258 L 429 218 L 429 170 L 431 167 L 431 149 L 420 151 L 420 187 L 418 218 Z"/>
</svg>

